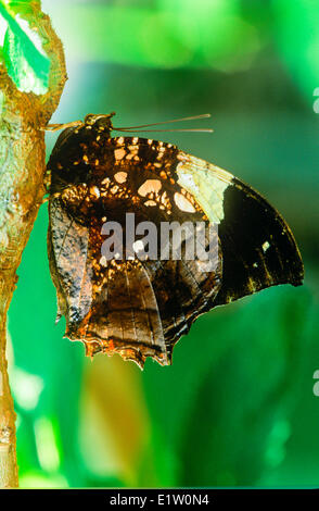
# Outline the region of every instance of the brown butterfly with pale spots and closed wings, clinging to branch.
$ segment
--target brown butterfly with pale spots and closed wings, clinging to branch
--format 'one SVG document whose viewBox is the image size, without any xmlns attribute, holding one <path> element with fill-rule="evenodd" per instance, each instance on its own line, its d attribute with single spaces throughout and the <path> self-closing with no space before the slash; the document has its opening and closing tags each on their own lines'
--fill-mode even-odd
<svg viewBox="0 0 319 511">
<path fill-rule="evenodd" d="M 140 367 L 148 357 L 167 365 L 200 314 L 270 286 L 301 285 L 303 262 L 290 227 L 257 191 L 171 144 L 112 137 L 113 115 L 71 123 L 48 162 L 58 319 L 65 316 L 65 337 L 82 341 L 87 356 L 117 352 Z M 119 225 L 123 242 L 128 214 L 137 225 L 201 223 L 204 249 L 217 226 L 213 269 L 186 257 L 184 239 L 179 258 L 141 258 L 138 250 L 106 258 L 105 225 Z M 132 247 L 145 248 L 141 234 Z M 171 237 L 165 242 L 171 248 Z"/>
</svg>

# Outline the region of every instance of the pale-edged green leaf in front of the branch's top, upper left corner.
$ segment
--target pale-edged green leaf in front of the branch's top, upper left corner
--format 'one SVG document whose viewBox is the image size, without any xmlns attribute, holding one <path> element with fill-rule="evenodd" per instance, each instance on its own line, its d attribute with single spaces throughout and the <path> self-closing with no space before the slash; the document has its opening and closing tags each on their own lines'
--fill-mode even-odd
<svg viewBox="0 0 319 511">
<path fill-rule="evenodd" d="M 11 9 L 0 1 L 0 15 L 8 23 L 3 60 L 8 74 L 23 92 L 46 94 L 49 85 L 50 60 L 39 34 L 21 16 L 27 2 Z"/>
</svg>

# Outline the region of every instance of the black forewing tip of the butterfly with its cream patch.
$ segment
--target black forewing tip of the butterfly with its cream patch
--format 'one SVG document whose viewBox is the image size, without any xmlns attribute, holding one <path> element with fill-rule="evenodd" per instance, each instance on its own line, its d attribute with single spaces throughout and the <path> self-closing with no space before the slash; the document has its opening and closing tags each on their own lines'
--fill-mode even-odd
<svg viewBox="0 0 319 511">
<path fill-rule="evenodd" d="M 178 183 L 193 190 L 209 220 L 218 224 L 224 270 L 213 306 L 279 284 L 301 285 L 302 258 L 280 213 L 222 169 L 184 152 L 177 160 Z"/>
</svg>

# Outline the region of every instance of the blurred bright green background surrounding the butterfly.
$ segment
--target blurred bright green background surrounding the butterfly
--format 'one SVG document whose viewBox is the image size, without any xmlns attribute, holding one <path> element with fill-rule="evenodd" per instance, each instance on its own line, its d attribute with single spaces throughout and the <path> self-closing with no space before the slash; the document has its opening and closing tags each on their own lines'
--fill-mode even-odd
<svg viewBox="0 0 319 511">
<path fill-rule="evenodd" d="M 306 279 L 201 316 L 173 366 L 91 362 L 62 338 L 63 320 L 54 325 L 43 205 L 9 317 L 21 486 L 318 486 L 318 1 L 42 7 L 68 70 L 52 122 L 115 110 L 119 124 L 137 125 L 210 112 L 194 126 L 214 135 L 160 138 L 265 195 L 296 236 Z M 55 139 L 47 135 L 48 155 Z"/>
</svg>

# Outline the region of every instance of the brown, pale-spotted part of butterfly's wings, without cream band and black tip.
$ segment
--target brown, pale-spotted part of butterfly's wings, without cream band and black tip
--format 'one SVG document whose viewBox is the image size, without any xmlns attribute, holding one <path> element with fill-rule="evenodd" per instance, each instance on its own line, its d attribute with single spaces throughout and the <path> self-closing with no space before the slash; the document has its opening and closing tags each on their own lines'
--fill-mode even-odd
<svg viewBox="0 0 319 511">
<path fill-rule="evenodd" d="M 146 357 L 170 363 L 175 342 L 208 310 L 220 287 L 218 240 L 210 273 L 187 260 L 182 250 L 179 260 L 106 261 L 106 217 L 124 232 L 127 212 L 136 214 L 137 223 L 151 221 L 157 227 L 171 220 L 205 219 L 207 242 L 209 222 L 173 177 L 173 146 L 165 150 L 162 142 L 139 145 L 130 138 L 97 145 L 91 132 L 74 135 L 68 130 L 58 140 L 48 164 L 49 260 L 65 335 L 82 340 L 89 356 L 119 352 L 141 366 Z M 171 238 L 167 244 L 171 250 Z"/>
</svg>

